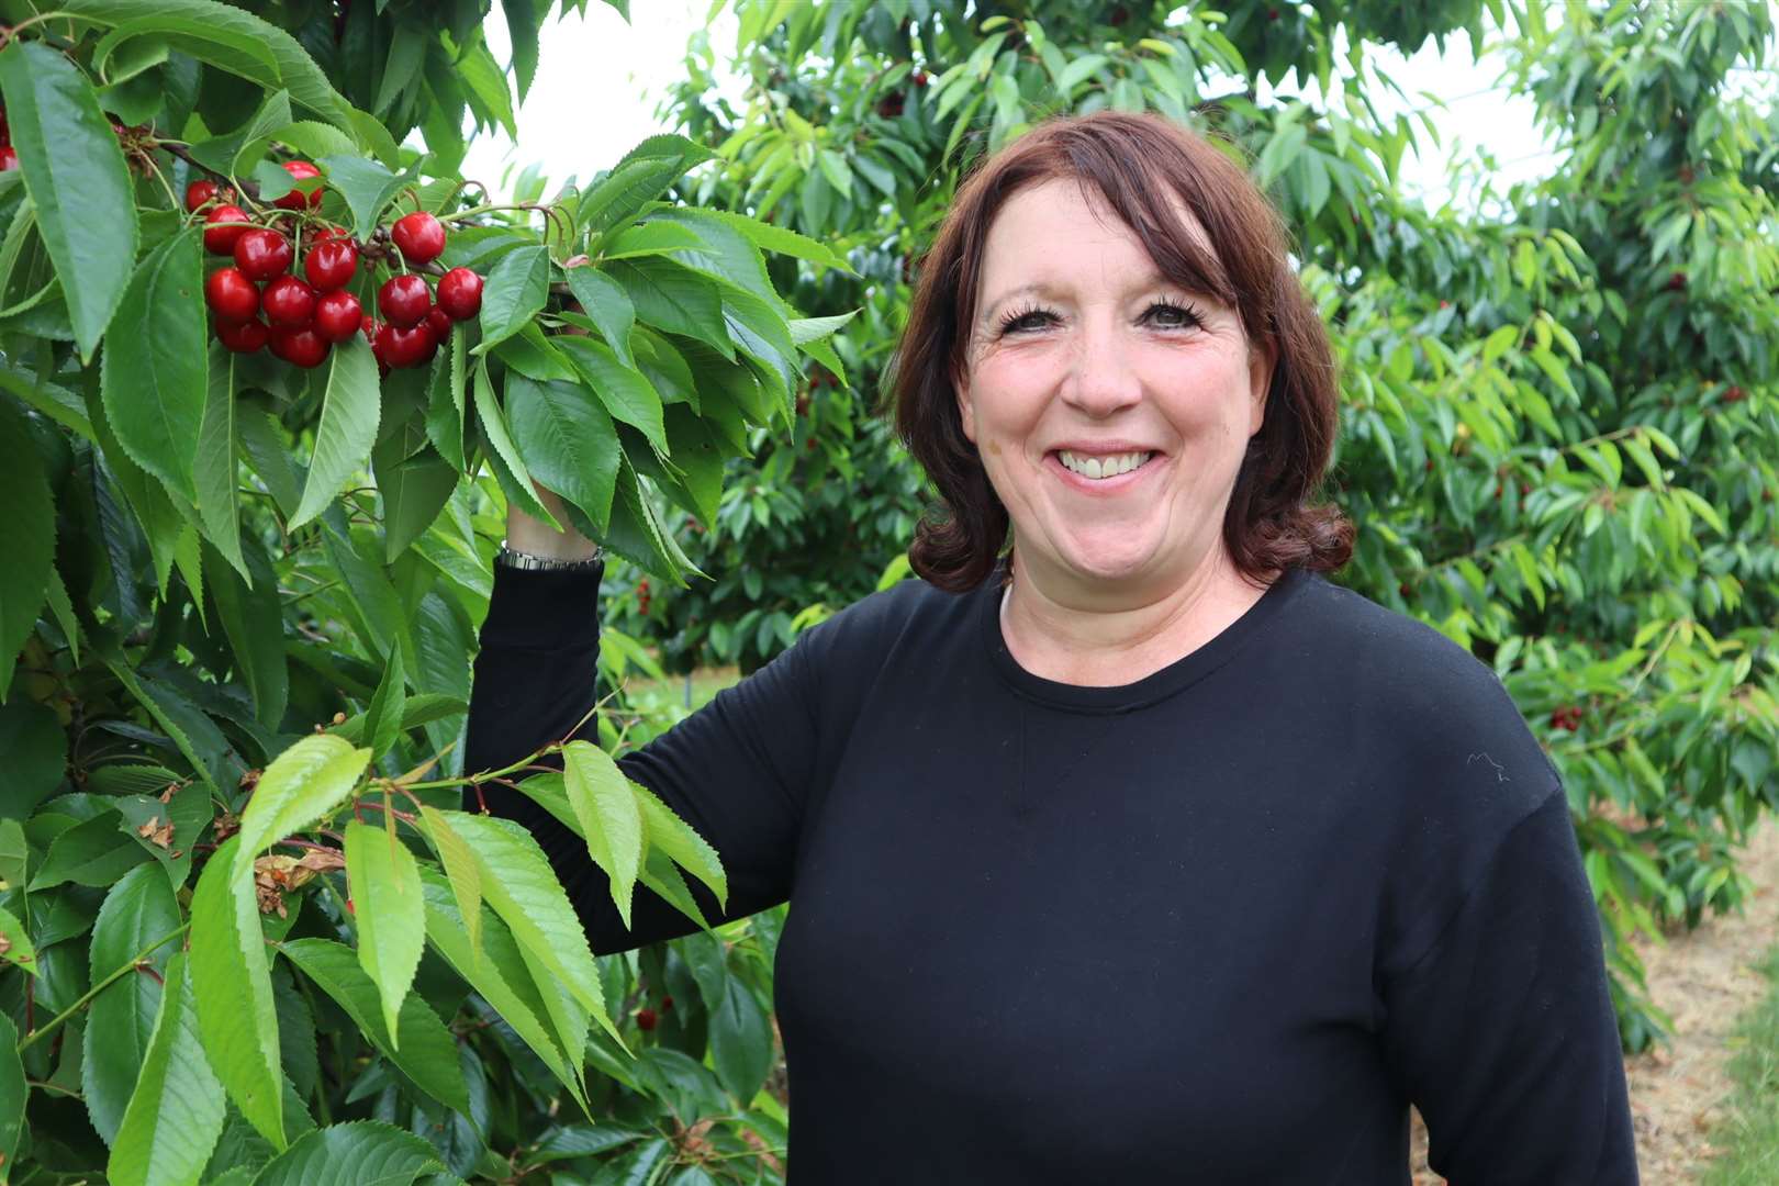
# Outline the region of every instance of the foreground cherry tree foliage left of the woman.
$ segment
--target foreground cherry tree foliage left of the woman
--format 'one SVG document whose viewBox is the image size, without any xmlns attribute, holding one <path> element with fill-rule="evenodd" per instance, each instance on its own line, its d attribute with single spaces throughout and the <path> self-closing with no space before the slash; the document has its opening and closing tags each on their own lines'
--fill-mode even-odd
<svg viewBox="0 0 1779 1186">
<path fill-rule="evenodd" d="M 710 156 L 672 135 L 475 201 L 464 126 L 511 128 L 585 0 L 503 0 L 509 66 L 489 9 L 0 0 L 0 1181 L 781 1181 L 781 916 L 594 957 L 537 845 L 461 811 L 459 747 L 505 501 L 539 478 L 681 583 L 664 507 L 713 516 L 833 357 L 763 252 L 825 252 L 672 201 Z M 297 260 L 342 228 L 365 308 L 464 267 L 480 311 L 420 366 L 356 320 L 313 368 L 224 349 L 192 181 Z M 391 245 L 409 212 L 441 258 Z M 534 761 L 493 773 L 623 909 L 724 900 L 605 750 Z"/>
</svg>

